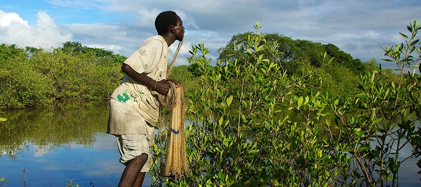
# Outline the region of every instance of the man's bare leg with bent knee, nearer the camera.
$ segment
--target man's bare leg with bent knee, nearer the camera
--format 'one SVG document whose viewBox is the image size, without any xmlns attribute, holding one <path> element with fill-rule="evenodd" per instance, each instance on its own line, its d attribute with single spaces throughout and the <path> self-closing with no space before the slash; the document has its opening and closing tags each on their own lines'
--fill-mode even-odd
<svg viewBox="0 0 421 187">
<path fill-rule="evenodd" d="M 124 168 L 123 174 L 121 174 L 118 187 L 134 187 L 136 179 L 138 180 L 138 183 L 136 183 L 137 187 L 141 187 L 143 179 L 145 178 L 145 173 L 143 172 L 142 174 L 140 170 L 143 168 L 146 161 L 148 161 L 148 154 L 146 153 L 142 153 L 130 160 L 126 168 Z"/>
</svg>

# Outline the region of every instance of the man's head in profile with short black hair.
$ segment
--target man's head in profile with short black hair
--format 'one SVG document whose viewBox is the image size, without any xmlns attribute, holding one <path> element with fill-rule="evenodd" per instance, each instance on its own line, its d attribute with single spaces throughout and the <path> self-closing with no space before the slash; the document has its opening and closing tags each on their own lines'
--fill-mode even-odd
<svg viewBox="0 0 421 187">
<path fill-rule="evenodd" d="M 158 14 L 155 19 L 155 29 L 158 35 L 165 35 L 171 32 L 180 41 L 184 37 L 183 22 L 173 11 L 165 11 Z"/>
</svg>

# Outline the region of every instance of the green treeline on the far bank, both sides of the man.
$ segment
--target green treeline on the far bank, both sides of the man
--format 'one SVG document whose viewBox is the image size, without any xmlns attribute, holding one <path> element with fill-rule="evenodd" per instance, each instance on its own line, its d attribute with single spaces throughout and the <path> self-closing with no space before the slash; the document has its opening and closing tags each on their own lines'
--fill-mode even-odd
<svg viewBox="0 0 421 187">
<path fill-rule="evenodd" d="M 244 43 L 250 34 L 233 36 L 226 47 L 218 50 L 218 60 L 226 62 L 238 58 L 243 50 L 237 45 Z M 265 42 L 276 45 L 279 58 L 271 60 L 281 64 L 288 75 L 297 75 L 303 68 L 315 71 L 306 77 L 305 84 L 311 86 L 301 90 L 294 88 L 291 90 L 294 93 L 354 94 L 360 73 L 378 66 L 374 59 L 363 63 L 333 44 L 294 40 L 279 34 L 266 34 Z M 323 57 L 331 61 L 324 61 Z M 125 59 L 125 56 L 74 41 L 49 50 L 3 43 L 0 45 L 0 110 L 45 107 L 67 100 L 105 101 L 123 77 L 120 66 Z M 239 62 L 238 65 L 245 63 Z M 177 66 L 170 78 L 194 90 L 199 76 L 195 66 Z M 391 70 L 389 72 L 394 75 Z"/>
</svg>

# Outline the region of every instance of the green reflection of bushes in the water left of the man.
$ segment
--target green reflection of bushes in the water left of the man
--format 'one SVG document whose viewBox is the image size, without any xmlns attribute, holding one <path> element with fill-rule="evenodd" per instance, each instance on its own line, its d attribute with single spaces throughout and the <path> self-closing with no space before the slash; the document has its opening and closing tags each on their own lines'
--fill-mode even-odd
<svg viewBox="0 0 421 187">
<path fill-rule="evenodd" d="M 103 106 L 105 105 L 105 106 Z M 107 104 L 78 106 L 66 104 L 52 110 L 19 111 L 2 113 L 9 120 L 1 123 L 1 152 L 10 157 L 31 142 L 41 149 L 51 149 L 62 144 L 92 146 L 95 137 L 92 132 L 105 132 Z"/>
</svg>

